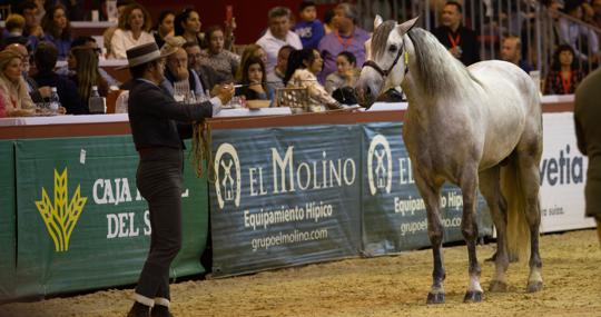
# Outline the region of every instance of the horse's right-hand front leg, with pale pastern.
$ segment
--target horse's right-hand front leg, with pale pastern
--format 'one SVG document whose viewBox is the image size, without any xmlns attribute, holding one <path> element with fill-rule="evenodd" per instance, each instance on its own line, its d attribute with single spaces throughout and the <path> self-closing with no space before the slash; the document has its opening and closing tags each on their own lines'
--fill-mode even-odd
<svg viewBox="0 0 601 317">
<path fill-rule="evenodd" d="M 466 169 L 460 177 L 460 187 L 463 195 L 463 217 L 461 219 L 461 232 L 467 245 L 470 260 L 470 285 L 463 301 L 482 301 L 482 286 L 480 286 L 480 265 L 476 257 L 476 198 L 477 198 L 477 169 Z"/>
</svg>

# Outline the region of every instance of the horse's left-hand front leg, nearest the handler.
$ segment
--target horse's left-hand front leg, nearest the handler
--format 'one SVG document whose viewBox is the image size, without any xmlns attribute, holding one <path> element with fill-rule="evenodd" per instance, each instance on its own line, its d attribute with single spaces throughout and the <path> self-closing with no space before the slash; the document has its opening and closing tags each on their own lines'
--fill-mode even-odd
<svg viewBox="0 0 601 317">
<path fill-rule="evenodd" d="M 424 199 L 427 215 L 427 236 L 432 245 L 434 270 L 432 271 L 432 287 L 427 294 L 427 304 L 444 303 L 443 281 L 446 277 L 442 258 L 443 229 L 441 222 L 441 186 L 434 181 L 427 181 L 420 172 L 415 172 L 415 184 Z"/>
</svg>

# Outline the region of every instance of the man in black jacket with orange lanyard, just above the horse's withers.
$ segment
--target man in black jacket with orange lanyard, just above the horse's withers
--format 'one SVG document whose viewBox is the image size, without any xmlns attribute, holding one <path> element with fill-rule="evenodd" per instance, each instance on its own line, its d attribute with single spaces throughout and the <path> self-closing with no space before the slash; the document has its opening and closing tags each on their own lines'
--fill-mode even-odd
<svg viewBox="0 0 601 317">
<path fill-rule="evenodd" d="M 479 46 L 476 33 L 463 26 L 462 17 L 462 6 L 456 1 L 447 1 L 442 11 L 441 26 L 433 33 L 452 56 L 470 66 L 480 61 Z"/>
</svg>

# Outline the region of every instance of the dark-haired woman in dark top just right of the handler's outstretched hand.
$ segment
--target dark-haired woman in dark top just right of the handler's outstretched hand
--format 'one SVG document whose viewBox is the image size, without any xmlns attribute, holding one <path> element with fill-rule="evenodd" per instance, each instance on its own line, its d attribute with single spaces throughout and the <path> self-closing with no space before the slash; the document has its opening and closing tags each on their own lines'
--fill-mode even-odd
<svg viewBox="0 0 601 317">
<path fill-rule="evenodd" d="M 246 100 L 272 100 L 273 91 L 267 90 L 263 60 L 258 57 L 250 57 L 242 68 L 243 77 L 238 82 L 244 86 L 236 91 L 236 95 L 244 96 Z"/>
</svg>

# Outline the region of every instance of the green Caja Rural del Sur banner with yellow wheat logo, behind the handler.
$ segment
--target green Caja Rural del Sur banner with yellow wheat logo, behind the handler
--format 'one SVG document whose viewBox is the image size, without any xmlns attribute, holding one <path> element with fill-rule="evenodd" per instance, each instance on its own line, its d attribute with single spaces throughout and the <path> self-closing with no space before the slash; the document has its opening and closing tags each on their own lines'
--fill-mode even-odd
<svg viewBox="0 0 601 317">
<path fill-rule="evenodd" d="M 131 136 L 17 142 L 18 295 L 132 284 L 150 224 Z M 184 246 L 171 276 L 204 271 L 207 189 L 186 168 Z"/>
</svg>

